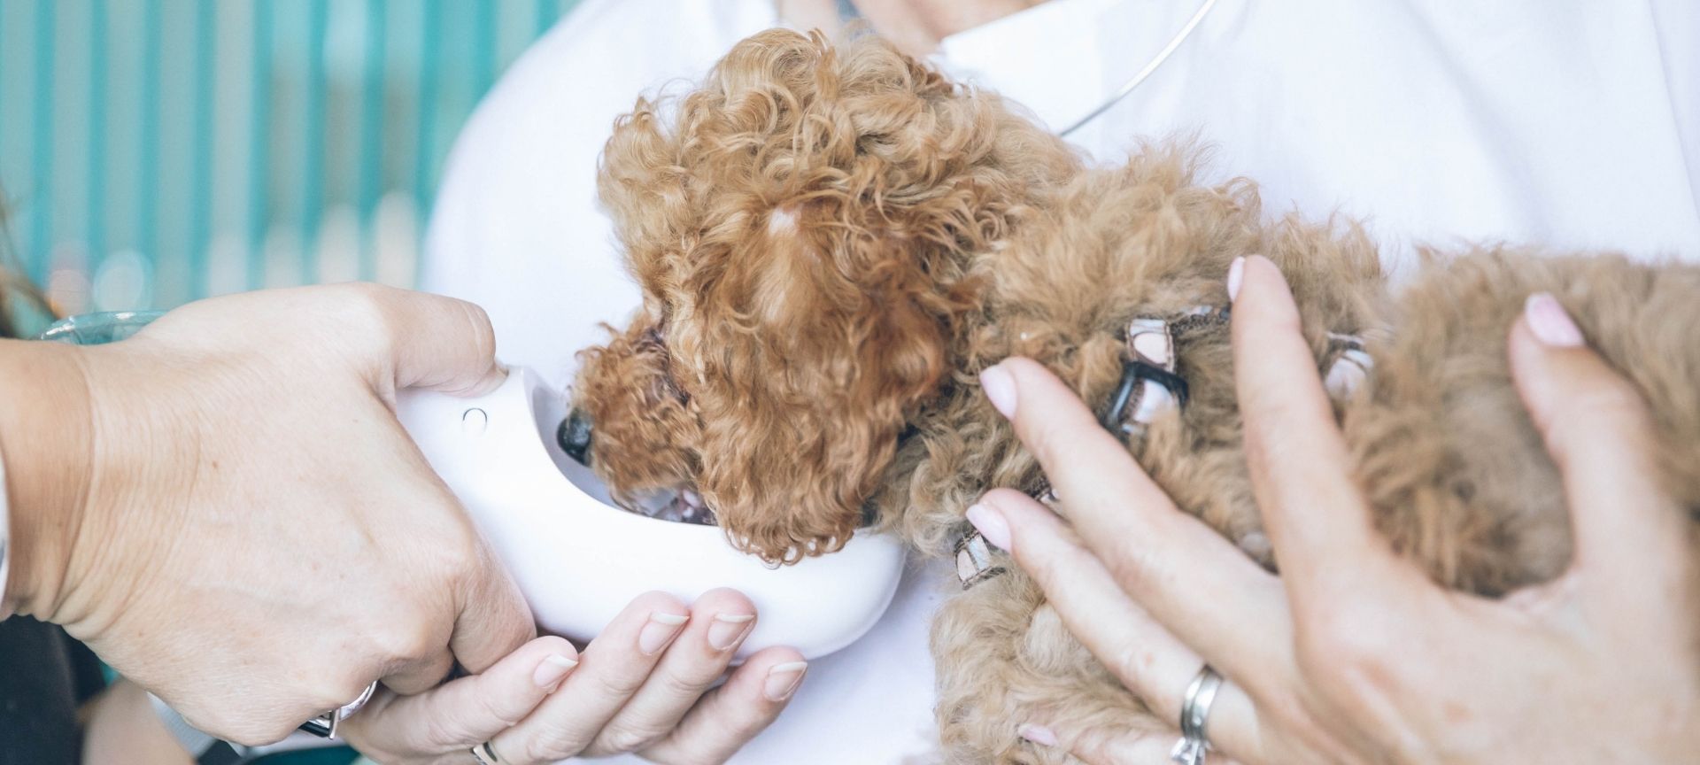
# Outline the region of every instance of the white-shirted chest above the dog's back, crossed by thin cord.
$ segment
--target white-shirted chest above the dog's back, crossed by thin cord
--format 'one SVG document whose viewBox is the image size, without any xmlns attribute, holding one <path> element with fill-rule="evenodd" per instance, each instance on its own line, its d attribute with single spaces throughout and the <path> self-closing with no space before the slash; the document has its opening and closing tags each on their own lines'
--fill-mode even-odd
<svg viewBox="0 0 1700 765">
<path fill-rule="evenodd" d="M 1062 128 L 1198 7 L 1056 0 L 947 41 L 942 63 Z M 1367 219 L 1392 265 L 1457 240 L 1700 257 L 1661 63 L 1640 3 L 1219 0 L 1069 138 L 1119 162 L 1139 141 L 1195 136 L 1209 177 L 1256 180 L 1272 216 Z"/>
</svg>

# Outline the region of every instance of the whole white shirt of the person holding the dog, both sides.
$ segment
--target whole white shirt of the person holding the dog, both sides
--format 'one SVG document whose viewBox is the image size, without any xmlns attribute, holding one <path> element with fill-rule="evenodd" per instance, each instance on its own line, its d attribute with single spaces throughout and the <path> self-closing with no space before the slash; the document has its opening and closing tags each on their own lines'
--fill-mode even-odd
<svg viewBox="0 0 1700 765">
<path fill-rule="evenodd" d="M 937 58 L 1071 124 L 1193 0 L 1051 0 L 945 39 Z M 770 0 L 585 0 L 478 107 L 449 158 L 425 289 L 484 306 L 498 354 L 556 384 L 638 304 L 595 163 L 638 94 L 700 78 L 780 20 Z M 1368 216 L 1391 265 L 1413 241 L 1535 241 L 1700 257 L 1700 5 L 1688 0 L 1219 0 L 1139 90 L 1071 136 L 1119 160 L 1197 134 L 1270 214 Z M 926 624 L 950 573 L 904 581 L 886 619 L 818 660 L 738 762 L 925 755 Z M 1176 688 L 1180 694 L 1182 688 Z"/>
</svg>

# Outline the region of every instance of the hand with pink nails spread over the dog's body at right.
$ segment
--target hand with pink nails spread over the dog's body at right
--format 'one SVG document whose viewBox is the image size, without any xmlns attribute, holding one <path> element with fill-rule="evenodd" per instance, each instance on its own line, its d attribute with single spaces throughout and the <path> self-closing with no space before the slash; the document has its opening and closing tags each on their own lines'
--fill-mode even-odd
<svg viewBox="0 0 1700 765">
<path fill-rule="evenodd" d="M 1700 751 L 1693 529 L 1658 486 L 1646 403 L 1557 301 L 1528 301 L 1510 355 L 1564 476 L 1576 556 L 1561 578 L 1488 600 L 1442 590 L 1377 536 L 1280 272 L 1260 257 L 1236 270 L 1236 384 L 1280 576 L 1178 512 L 1042 367 L 1012 359 L 984 376 L 1069 520 L 1005 490 L 971 518 L 1081 643 L 1164 719 L 1178 721 L 1209 661 L 1229 680 L 1209 738 L 1246 763 Z M 1168 762 L 1175 741 L 1066 724 L 1030 721 L 1025 734 L 1093 763 Z"/>
</svg>

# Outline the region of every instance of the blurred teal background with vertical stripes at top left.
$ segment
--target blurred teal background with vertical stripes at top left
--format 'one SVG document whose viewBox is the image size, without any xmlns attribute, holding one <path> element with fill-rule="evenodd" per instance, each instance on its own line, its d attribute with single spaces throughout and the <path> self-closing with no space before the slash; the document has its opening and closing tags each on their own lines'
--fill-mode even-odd
<svg viewBox="0 0 1700 765">
<path fill-rule="evenodd" d="M 0 189 L 60 313 L 411 286 L 444 155 L 576 0 L 0 0 Z"/>
</svg>

